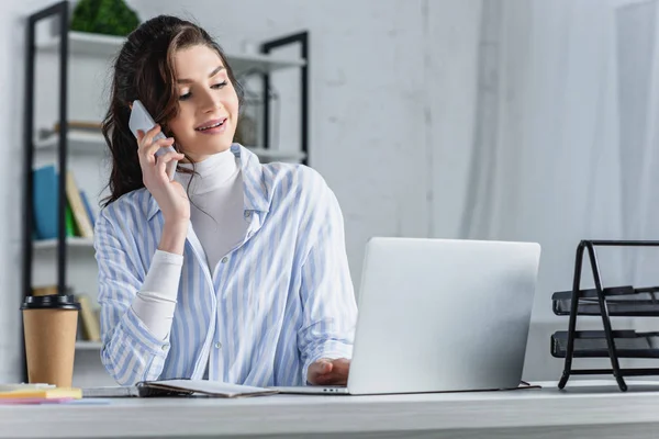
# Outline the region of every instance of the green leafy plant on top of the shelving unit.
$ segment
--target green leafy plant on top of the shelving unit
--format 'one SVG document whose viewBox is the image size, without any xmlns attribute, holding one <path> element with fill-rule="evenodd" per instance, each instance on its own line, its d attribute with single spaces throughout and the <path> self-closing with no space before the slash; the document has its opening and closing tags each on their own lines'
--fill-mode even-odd
<svg viewBox="0 0 659 439">
<path fill-rule="evenodd" d="M 74 9 L 71 31 L 125 36 L 139 18 L 123 0 L 80 0 Z"/>
</svg>

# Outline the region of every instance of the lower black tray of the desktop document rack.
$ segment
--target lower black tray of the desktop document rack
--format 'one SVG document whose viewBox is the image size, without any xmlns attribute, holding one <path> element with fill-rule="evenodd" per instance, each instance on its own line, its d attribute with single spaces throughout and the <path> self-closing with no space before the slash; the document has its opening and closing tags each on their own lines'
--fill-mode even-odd
<svg viewBox="0 0 659 439">
<path fill-rule="evenodd" d="M 566 358 L 568 331 L 559 330 L 551 336 L 551 356 Z M 618 358 L 659 358 L 659 333 L 614 330 L 613 341 Z M 585 330 L 574 333 L 574 357 L 608 358 L 606 333 Z"/>
</svg>

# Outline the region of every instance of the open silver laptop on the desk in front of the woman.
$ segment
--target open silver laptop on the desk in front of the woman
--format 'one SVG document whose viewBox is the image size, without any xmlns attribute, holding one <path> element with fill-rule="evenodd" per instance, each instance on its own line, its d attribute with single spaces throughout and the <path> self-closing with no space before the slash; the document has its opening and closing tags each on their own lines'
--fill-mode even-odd
<svg viewBox="0 0 659 439">
<path fill-rule="evenodd" d="M 516 389 L 540 258 L 536 243 L 371 238 L 347 386 L 281 393 Z"/>
</svg>

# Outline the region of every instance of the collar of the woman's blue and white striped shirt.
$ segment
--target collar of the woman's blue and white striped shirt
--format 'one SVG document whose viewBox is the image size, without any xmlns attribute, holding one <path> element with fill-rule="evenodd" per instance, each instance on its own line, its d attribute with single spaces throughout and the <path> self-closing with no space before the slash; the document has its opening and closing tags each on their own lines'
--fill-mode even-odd
<svg viewBox="0 0 659 439">
<path fill-rule="evenodd" d="M 238 159 L 243 172 L 243 187 L 245 189 L 245 211 L 269 212 L 271 198 L 265 183 L 263 165 L 258 156 L 239 144 L 233 144 L 231 151 Z M 147 221 L 150 221 L 160 211 L 158 203 L 149 196 Z"/>
</svg>

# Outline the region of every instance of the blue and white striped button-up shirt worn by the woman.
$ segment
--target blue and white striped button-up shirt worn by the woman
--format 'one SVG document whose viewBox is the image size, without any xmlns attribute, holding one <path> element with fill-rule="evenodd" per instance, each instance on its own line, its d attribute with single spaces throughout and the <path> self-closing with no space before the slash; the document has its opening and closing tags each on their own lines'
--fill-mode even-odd
<svg viewBox="0 0 659 439">
<path fill-rule="evenodd" d="M 123 385 L 209 379 L 302 385 L 320 358 L 351 358 L 357 318 L 343 215 L 312 168 L 260 164 L 232 145 L 245 188 L 243 245 L 211 273 L 190 226 L 169 336 L 158 339 L 132 309 L 164 225 L 146 189 L 104 207 L 94 227 L 101 360 Z"/>
</svg>

